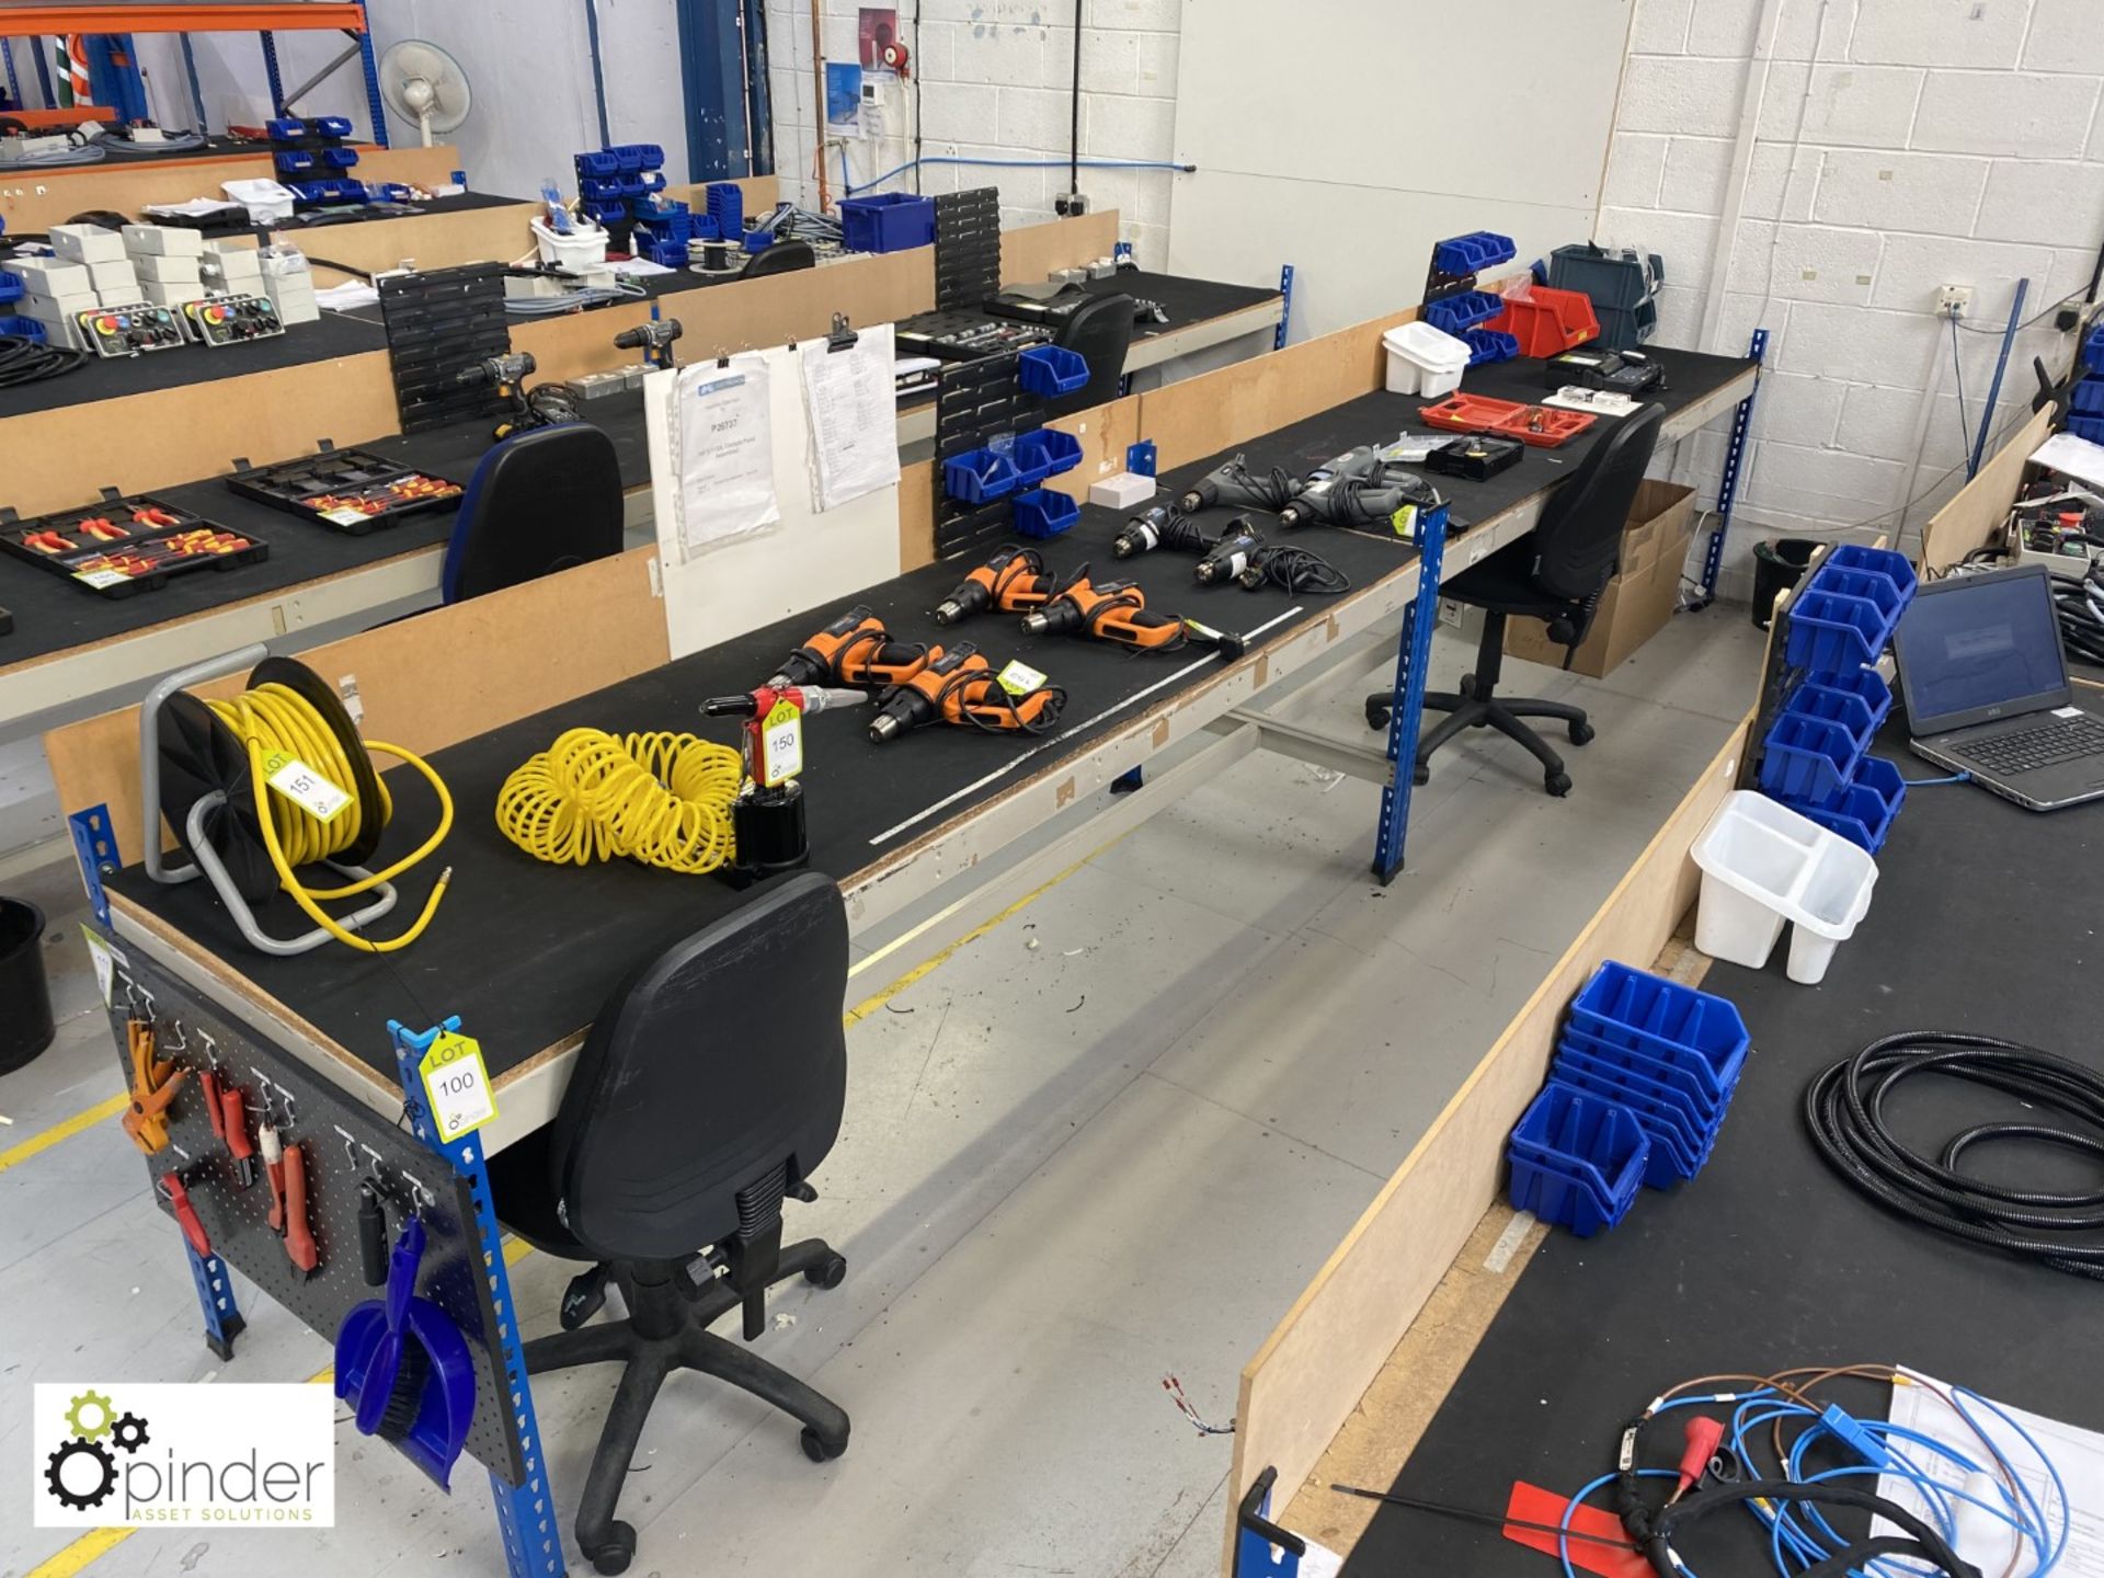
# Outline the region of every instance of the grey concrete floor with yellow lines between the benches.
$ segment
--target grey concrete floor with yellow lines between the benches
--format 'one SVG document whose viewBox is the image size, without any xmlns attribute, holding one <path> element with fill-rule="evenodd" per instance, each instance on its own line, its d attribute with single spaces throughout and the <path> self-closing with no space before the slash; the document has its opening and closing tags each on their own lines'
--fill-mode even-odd
<svg viewBox="0 0 2104 1578">
<path fill-rule="evenodd" d="M 1576 791 L 1549 800 L 1488 732 L 1448 747 L 1391 888 L 1365 873 L 1372 785 L 1250 757 L 858 1023 L 823 1199 L 791 1218 L 844 1250 L 848 1281 L 785 1290 L 762 1340 L 848 1408 L 854 1443 L 814 1466 L 787 1420 L 675 1378 L 621 1502 L 633 1572 L 1218 1572 L 1231 1443 L 1199 1437 L 1161 1378 L 1233 1414 L 1241 1365 L 1751 705 L 1759 650 L 1719 608 L 1605 682 L 1511 665 L 1511 690 L 1593 711 L 1599 739 L 1567 753 Z M 1433 682 L 1466 659 L 1441 631 Z M 1372 688 L 1338 686 L 1307 722 L 1370 739 Z M 0 1079 L 0 1149 L 118 1090 L 72 875 L 11 886 L 53 913 L 65 1023 Z M 553 1330 L 572 1271 L 513 1267 L 530 1334 Z M 0 1172 L 0 1277 L 11 1389 L 219 1368 L 116 1121 Z M 225 1380 L 328 1363 L 290 1315 L 246 1313 Z M 612 1380 L 534 1384 L 566 1542 Z M 139 1534 L 90 1572 L 503 1572 L 471 1466 L 442 1498 L 353 1431 L 339 1445 L 326 1540 Z M 6 1410 L 0 1578 L 67 1544 L 29 1528 L 25 1456 Z"/>
</svg>

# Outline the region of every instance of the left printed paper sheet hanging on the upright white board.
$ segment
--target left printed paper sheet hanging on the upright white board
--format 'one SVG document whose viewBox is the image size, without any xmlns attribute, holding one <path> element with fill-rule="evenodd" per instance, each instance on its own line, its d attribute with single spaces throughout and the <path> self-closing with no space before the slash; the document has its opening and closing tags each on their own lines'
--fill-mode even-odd
<svg viewBox="0 0 2104 1578">
<path fill-rule="evenodd" d="M 680 370 L 667 423 L 680 560 L 781 520 L 774 499 L 772 372 L 757 353 Z"/>
</svg>

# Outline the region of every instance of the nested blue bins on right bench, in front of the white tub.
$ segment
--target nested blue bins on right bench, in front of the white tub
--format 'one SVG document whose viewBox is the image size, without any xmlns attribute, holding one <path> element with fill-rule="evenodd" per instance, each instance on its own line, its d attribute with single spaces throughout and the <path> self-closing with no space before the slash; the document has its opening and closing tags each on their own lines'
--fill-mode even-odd
<svg viewBox="0 0 2104 1578">
<path fill-rule="evenodd" d="M 1639 1187 L 1694 1178 L 1746 1067 L 1746 1020 L 1723 997 L 1607 962 L 1578 993 L 1549 1084 L 1513 1128 L 1509 1197 L 1593 1237 Z"/>
</svg>

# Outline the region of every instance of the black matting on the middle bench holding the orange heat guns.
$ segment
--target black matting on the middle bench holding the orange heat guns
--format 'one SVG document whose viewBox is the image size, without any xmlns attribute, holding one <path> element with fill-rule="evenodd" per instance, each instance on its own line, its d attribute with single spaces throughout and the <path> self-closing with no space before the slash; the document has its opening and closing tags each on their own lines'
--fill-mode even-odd
<svg viewBox="0 0 2104 1578">
<path fill-rule="evenodd" d="M 1687 400 L 1729 381 L 1744 364 L 1683 356 L 1677 358 L 1677 368 L 1683 372 L 1677 379 L 1683 387 L 1675 398 Z M 1414 396 L 1370 393 L 1241 448 L 1254 465 L 1304 471 L 1357 444 L 1393 440 L 1418 404 Z M 1521 465 L 1485 484 L 1456 484 L 1456 507 L 1471 520 L 1483 520 L 1553 484 L 1570 461 L 1570 452 L 1555 459 L 1530 452 Z M 1208 459 L 1182 467 L 1168 482 L 1176 486 L 1197 478 L 1212 463 Z M 1218 526 L 1227 518 L 1229 511 L 1212 511 L 1210 522 Z M 1084 509 L 1081 524 L 1046 547 L 1048 564 L 1071 570 L 1084 560 L 1092 562 L 1102 576 L 1136 579 L 1149 606 L 1210 625 L 1235 631 L 1269 625 L 1254 644 L 1279 640 L 1323 616 L 1323 598 L 1199 587 L 1187 555 L 1149 553 L 1119 564 L 1109 553 L 1109 541 L 1121 520 L 1113 511 Z M 1393 537 L 1311 528 L 1307 543 L 1359 587 L 1414 564 L 1414 553 Z M 202 884 L 156 888 L 133 869 L 112 886 L 238 962 L 263 991 L 292 1006 L 301 1018 L 375 1069 L 391 1069 L 387 1018 L 429 1025 L 444 1014 L 461 1014 L 467 1033 L 482 1041 L 490 1071 L 501 1073 L 589 1025 L 606 993 L 640 957 L 669 947 L 739 903 L 739 894 L 715 877 L 669 875 L 629 863 L 549 867 L 507 844 L 490 814 L 497 791 L 513 768 L 562 730 L 692 730 L 732 743 L 732 722 L 703 720 L 701 701 L 751 690 L 774 673 L 791 648 L 850 602 L 869 604 L 903 640 L 976 642 L 995 665 L 1020 656 L 1054 684 L 1067 686 L 1060 732 L 1075 732 L 1052 745 L 968 728 L 926 728 L 888 745 L 871 745 L 865 732 L 867 709 L 814 717 L 806 730 L 804 772 L 812 867 L 837 879 L 1016 783 L 1054 770 L 1092 739 L 1178 690 L 1201 684 L 1220 665 L 1220 659 L 1206 659 L 1201 652 L 1132 654 L 1075 638 L 1027 638 L 1012 616 L 980 614 L 953 631 L 940 631 L 928 610 L 957 585 L 972 562 L 976 555 L 915 570 L 854 600 L 842 600 L 839 606 L 739 635 L 440 751 L 433 766 L 450 785 L 454 829 L 442 854 L 406 882 L 404 901 L 408 907 L 423 903 L 427 884 L 438 875 L 438 861 L 452 863 L 454 879 L 431 930 L 402 953 L 370 959 L 330 947 L 301 959 L 265 959 L 248 953 Z M 1300 612 L 1273 623 L 1294 608 Z M 549 640 L 560 642 L 562 631 L 549 631 Z M 1008 768 L 1006 776 L 989 778 L 1002 768 Z M 436 814 L 421 781 L 402 770 L 387 781 L 396 791 L 396 823 L 381 844 L 381 863 L 414 848 Z M 922 821 L 903 827 L 913 816 Z M 128 842 L 137 839 L 128 829 L 118 833 Z M 1370 856 L 1372 833 L 1368 827 Z M 126 852 L 135 854 L 128 846 Z M 305 922 L 284 898 L 274 898 L 263 913 L 265 926 L 280 934 L 305 930 Z"/>
</svg>

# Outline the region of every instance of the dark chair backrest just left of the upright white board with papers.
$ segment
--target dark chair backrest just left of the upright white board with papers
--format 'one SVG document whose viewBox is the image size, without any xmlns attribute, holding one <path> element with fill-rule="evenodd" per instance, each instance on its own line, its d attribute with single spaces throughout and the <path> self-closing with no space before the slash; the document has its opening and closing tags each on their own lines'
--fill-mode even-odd
<svg viewBox="0 0 2104 1578">
<path fill-rule="evenodd" d="M 591 423 L 513 433 L 482 457 L 446 543 L 446 602 L 621 551 L 621 459 Z"/>
</svg>

